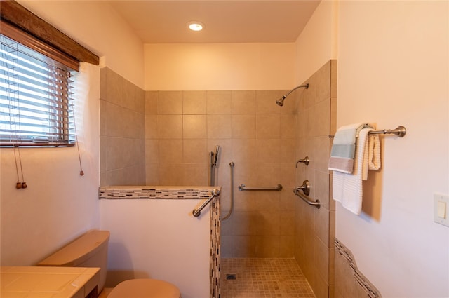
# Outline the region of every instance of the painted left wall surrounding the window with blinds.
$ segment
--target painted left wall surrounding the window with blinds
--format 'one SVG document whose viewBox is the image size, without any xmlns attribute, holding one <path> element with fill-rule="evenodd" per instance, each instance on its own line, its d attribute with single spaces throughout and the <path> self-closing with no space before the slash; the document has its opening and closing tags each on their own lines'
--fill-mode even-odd
<svg viewBox="0 0 449 298">
<path fill-rule="evenodd" d="M 142 43 L 109 5 L 101 1 L 19 2 L 102 56 L 103 66 L 143 86 Z M 100 67 L 81 64 L 76 81 L 84 176 L 79 175 L 74 147 L 25 148 L 20 155 L 28 188 L 15 189 L 14 152 L 0 149 L 2 265 L 33 265 L 88 229 L 100 227 Z"/>
</svg>

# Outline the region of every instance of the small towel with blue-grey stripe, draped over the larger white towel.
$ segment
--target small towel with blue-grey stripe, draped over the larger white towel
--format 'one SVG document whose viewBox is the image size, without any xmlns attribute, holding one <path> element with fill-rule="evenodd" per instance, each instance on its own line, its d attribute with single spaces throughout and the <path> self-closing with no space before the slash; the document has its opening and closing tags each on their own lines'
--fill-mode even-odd
<svg viewBox="0 0 449 298">
<path fill-rule="evenodd" d="M 367 123 L 355 123 L 337 130 L 330 151 L 329 170 L 351 174 L 354 169 L 356 138 L 362 128 L 370 126 Z"/>
</svg>

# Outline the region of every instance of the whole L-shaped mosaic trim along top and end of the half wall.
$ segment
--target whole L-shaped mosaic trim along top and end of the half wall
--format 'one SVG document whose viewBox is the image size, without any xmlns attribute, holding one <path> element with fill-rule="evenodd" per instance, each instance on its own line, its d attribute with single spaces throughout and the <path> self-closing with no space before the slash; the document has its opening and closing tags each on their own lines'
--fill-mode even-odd
<svg viewBox="0 0 449 298">
<path fill-rule="evenodd" d="M 219 187 L 218 190 L 221 191 Z M 205 199 L 212 196 L 210 187 L 135 187 L 114 186 L 100 187 L 99 199 Z M 216 196 L 209 203 L 210 210 L 210 298 L 220 298 L 220 245 L 221 219 L 220 196 Z"/>
</svg>

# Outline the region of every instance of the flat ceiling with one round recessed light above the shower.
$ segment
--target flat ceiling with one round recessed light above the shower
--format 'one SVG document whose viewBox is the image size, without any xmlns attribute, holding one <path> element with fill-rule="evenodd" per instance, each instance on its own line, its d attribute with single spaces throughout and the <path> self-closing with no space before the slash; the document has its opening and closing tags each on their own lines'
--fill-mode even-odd
<svg viewBox="0 0 449 298">
<path fill-rule="evenodd" d="M 321 0 L 109 0 L 144 43 L 294 42 Z M 192 32 L 187 22 L 206 28 Z"/>
</svg>

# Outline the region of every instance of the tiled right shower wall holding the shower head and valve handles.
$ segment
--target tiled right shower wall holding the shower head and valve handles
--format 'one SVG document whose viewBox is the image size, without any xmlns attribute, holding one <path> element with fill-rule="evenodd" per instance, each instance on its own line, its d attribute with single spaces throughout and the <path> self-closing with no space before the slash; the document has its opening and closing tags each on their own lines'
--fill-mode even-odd
<svg viewBox="0 0 449 298">
<path fill-rule="evenodd" d="M 304 83 L 309 89 L 299 97 L 297 109 L 296 185 L 309 180 L 309 199 L 319 200 L 319 209 L 295 197 L 295 259 L 316 298 L 333 297 L 335 202 L 329 197 L 329 134 L 335 133 L 337 62 L 328 61 Z"/>
</svg>

